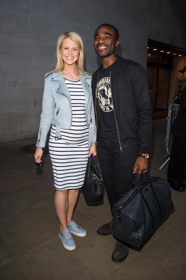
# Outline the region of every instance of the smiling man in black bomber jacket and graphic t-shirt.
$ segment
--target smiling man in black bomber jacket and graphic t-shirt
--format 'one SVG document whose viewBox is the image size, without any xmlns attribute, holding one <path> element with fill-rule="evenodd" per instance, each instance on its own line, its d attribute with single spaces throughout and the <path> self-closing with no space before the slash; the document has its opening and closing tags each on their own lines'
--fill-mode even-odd
<svg viewBox="0 0 186 280">
<path fill-rule="evenodd" d="M 147 171 L 151 140 L 151 103 L 145 69 L 117 55 L 119 33 L 110 24 L 94 34 L 102 65 L 92 76 L 97 152 L 110 207 L 130 190 L 133 173 Z M 112 234 L 113 220 L 97 233 Z M 128 246 L 117 240 L 112 260 L 122 262 Z"/>
</svg>

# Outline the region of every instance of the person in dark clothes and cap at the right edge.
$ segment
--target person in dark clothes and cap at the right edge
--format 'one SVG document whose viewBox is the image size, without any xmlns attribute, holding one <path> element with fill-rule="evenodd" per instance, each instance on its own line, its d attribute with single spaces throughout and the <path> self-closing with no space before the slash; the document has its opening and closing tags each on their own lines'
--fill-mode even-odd
<svg viewBox="0 0 186 280">
<path fill-rule="evenodd" d="M 186 66 L 179 72 L 186 79 Z M 179 112 L 171 131 L 173 144 L 167 169 L 167 181 L 174 190 L 183 192 L 186 188 L 186 86 L 182 91 Z"/>
</svg>

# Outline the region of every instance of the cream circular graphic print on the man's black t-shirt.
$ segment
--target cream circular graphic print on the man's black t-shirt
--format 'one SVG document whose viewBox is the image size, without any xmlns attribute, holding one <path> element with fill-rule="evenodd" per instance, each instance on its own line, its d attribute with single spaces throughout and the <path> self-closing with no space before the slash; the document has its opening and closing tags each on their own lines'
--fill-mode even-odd
<svg viewBox="0 0 186 280">
<path fill-rule="evenodd" d="M 96 98 L 98 99 L 101 110 L 104 112 L 110 112 L 113 110 L 109 77 L 103 78 L 97 83 Z"/>
</svg>

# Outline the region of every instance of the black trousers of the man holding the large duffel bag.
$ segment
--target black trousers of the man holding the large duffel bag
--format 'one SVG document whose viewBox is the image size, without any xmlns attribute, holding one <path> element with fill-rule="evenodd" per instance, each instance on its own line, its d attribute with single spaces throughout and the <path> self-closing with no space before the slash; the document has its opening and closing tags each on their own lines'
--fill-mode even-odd
<svg viewBox="0 0 186 280">
<path fill-rule="evenodd" d="M 121 152 L 119 143 L 98 136 L 97 154 L 111 208 L 130 190 L 138 150 L 135 146 Z"/>
</svg>

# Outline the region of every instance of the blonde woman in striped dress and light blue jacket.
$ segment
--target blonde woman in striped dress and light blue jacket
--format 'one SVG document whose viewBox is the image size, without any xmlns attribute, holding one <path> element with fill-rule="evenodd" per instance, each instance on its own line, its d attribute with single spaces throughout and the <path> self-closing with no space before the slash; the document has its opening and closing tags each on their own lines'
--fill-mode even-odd
<svg viewBox="0 0 186 280">
<path fill-rule="evenodd" d="M 91 76 L 83 70 L 83 42 L 75 32 L 63 33 L 57 41 L 57 64 L 45 75 L 42 113 L 35 150 L 40 164 L 47 133 L 55 192 L 59 236 L 67 250 L 74 250 L 72 234 L 86 230 L 72 220 L 82 187 L 88 157 L 96 155 L 96 125 L 92 103 Z M 52 125 L 52 126 L 51 126 Z"/>
</svg>

